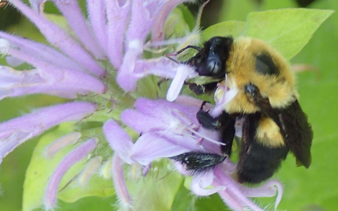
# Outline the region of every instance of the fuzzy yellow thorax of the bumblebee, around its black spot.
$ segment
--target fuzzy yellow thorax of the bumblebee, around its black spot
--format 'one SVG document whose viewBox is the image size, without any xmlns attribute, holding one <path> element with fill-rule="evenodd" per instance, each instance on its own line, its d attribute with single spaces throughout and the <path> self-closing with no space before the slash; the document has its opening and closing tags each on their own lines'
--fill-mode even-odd
<svg viewBox="0 0 338 211">
<path fill-rule="evenodd" d="M 268 53 L 279 69 L 278 75 L 260 74 L 256 70 L 254 55 Z M 289 63 L 279 52 L 262 40 L 246 37 L 238 38 L 226 62 L 228 80 L 236 83 L 238 93 L 225 106 L 228 113 L 255 113 L 259 108 L 250 103 L 245 96 L 244 86 L 254 84 L 261 95 L 268 98 L 273 108 L 285 108 L 298 97 L 294 74 Z M 215 96 L 217 98 L 217 96 Z"/>
</svg>

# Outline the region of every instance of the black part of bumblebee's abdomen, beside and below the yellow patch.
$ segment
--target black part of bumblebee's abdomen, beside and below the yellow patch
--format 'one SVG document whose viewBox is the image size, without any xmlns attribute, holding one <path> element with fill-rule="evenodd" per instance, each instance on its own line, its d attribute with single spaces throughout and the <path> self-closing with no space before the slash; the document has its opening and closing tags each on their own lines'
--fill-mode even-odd
<svg viewBox="0 0 338 211">
<path fill-rule="evenodd" d="M 289 152 L 286 145 L 270 148 L 255 140 L 261 114 L 246 115 L 237 165 L 239 182 L 259 183 L 270 178 Z"/>
</svg>

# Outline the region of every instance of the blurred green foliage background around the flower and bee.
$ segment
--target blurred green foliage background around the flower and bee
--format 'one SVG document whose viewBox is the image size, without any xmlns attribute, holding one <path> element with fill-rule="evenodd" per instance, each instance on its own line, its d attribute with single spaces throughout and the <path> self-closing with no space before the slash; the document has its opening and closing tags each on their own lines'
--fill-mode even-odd
<svg viewBox="0 0 338 211">
<path fill-rule="evenodd" d="M 259 3 L 260 2 L 260 3 Z M 84 3 L 81 2 L 83 8 Z M 192 10 L 196 6 L 189 5 Z M 298 7 L 291 0 L 211 0 L 203 12 L 202 25 L 238 20 L 245 21 L 247 13 L 268 9 Z M 317 0 L 308 8 L 338 10 L 336 0 Z M 58 13 L 48 2 L 46 12 Z M 194 10 L 192 11 L 193 13 Z M 9 6 L 0 9 L 0 29 L 44 42 L 33 25 Z M 312 164 L 309 169 L 296 168 L 292 155 L 274 178 L 284 185 L 284 195 L 279 206 L 281 210 L 295 211 L 336 211 L 338 210 L 338 14 L 334 13 L 315 32 L 309 43 L 296 55 L 291 64 L 309 64 L 319 72 L 305 71 L 297 74 L 300 104 L 308 114 L 314 130 Z M 0 58 L 0 64 L 6 64 Z M 20 66 L 25 69 L 27 66 Z M 4 121 L 30 110 L 57 104 L 63 99 L 45 95 L 33 95 L 0 101 L 0 121 Z M 32 150 L 39 140 L 34 138 L 5 157 L 0 167 L 0 210 L 22 209 L 22 192 L 26 168 Z M 74 203 L 59 201 L 60 210 L 114 210 L 115 197 L 86 197 Z M 259 204 L 273 203 L 270 199 L 258 199 Z M 269 207 L 272 209 L 272 206 Z M 172 211 L 175 210 L 224 210 L 223 202 L 217 195 L 210 198 L 194 198 L 182 184 L 175 196 Z"/>
</svg>

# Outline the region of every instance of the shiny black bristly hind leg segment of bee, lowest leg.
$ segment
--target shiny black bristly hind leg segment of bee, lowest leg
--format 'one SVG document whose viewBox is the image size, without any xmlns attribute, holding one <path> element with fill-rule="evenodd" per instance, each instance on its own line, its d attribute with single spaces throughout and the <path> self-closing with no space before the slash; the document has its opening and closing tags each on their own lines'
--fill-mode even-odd
<svg viewBox="0 0 338 211">
<path fill-rule="evenodd" d="M 217 164 L 223 162 L 226 157 L 225 155 L 213 153 L 186 152 L 169 158 L 186 165 L 188 171 L 201 173 L 213 169 Z"/>
</svg>

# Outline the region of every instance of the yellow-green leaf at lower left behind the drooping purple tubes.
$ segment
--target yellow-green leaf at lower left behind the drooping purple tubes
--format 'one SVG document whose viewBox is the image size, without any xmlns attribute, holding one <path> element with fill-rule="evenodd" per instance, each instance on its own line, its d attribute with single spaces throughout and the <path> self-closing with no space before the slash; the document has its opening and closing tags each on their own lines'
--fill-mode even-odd
<svg viewBox="0 0 338 211">
<path fill-rule="evenodd" d="M 53 157 L 47 158 L 44 155 L 46 147 L 55 139 L 73 132 L 75 125 L 64 123 L 51 130 L 41 137 L 37 146 L 34 148 L 30 164 L 26 171 L 23 188 L 23 211 L 30 211 L 43 204 L 45 190 L 50 176 L 56 169 L 59 162 L 77 145 L 69 145 L 58 151 Z M 73 202 L 86 196 L 111 196 L 114 194 L 113 182 L 100 177 L 93 177 L 85 187 L 81 187 L 76 181 L 76 175 L 86 166 L 87 158 L 76 163 L 63 177 L 58 196 L 67 202 Z M 71 181 L 71 182 L 70 182 Z M 69 183 L 70 182 L 70 183 Z M 66 185 L 69 183 L 68 185 Z"/>
</svg>

